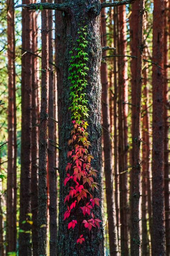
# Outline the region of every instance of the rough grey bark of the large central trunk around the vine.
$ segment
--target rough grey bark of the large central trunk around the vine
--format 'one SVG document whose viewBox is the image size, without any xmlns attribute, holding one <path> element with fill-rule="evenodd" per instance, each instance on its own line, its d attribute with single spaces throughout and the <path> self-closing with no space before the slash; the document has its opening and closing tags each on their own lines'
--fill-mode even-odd
<svg viewBox="0 0 170 256">
<path fill-rule="evenodd" d="M 60 168 L 60 205 L 59 205 L 59 232 L 58 232 L 58 255 L 100 255 L 103 256 L 103 231 L 100 229 L 92 229 L 90 232 L 83 229 L 82 234 L 85 237 L 85 243 L 80 246 L 76 244 L 76 239 L 79 237 L 79 231 L 68 230 L 68 221 L 63 221 L 63 213 L 66 206 L 63 203 L 67 195 L 67 189 L 64 187 L 63 181 L 65 178 L 65 167 L 67 163 L 66 152 L 69 151 L 68 140 L 71 131 L 71 113 L 68 111 L 69 102 L 69 76 L 68 67 L 70 54 L 73 44 L 77 39 L 78 24 L 85 21 L 88 26 L 87 40 L 89 41 L 89 61 L 88 67 L 88 88 L 87 95 L 90 109 L 90 117 L 88 119 L 90 133 L 89 140 L 92 143 L 91 153 L 94 156 L 93 166 L 99 171 L 97 182 L 101 183 L 101 84 L 100 84 L 100 62 L 101 62 L 101 44 L 100 44 L 100 2 L 93 1 L 72 1 L 72 8 L 69 14 L 63 17 L 63 105 L 62 110 L 62 151 L 61 151 L 61 168 Z M 88 8 L 89 7 L 89 8 Z M 91 7 L 91 9 L 90 9 Z M 100 198 L 100 190 L 95 190 L 93 195 Z M 94 209 L 95 216 L 101 219 L 101 208 Z M 82 214 L 80 213 L 80 222 Z"/>
</svg>

